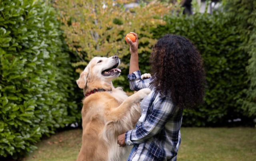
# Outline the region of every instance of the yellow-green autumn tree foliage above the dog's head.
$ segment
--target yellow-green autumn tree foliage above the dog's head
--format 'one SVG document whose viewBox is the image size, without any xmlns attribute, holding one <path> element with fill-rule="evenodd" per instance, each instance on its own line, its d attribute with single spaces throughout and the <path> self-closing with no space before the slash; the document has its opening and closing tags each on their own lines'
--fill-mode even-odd
<svg viewBox="0 0 256 161">
<path fill-rule="evenodd" d="M 156 42 L 150 28 L 164 24 L 161 19 L 174 7 L 172 4 L 158 2 L 141 3 L 134 8 L 126 8 L 131 0 L 58 0 L 55 7 L 60 10 L 62 29 L 70 49 L 80 58 L 73 63 L 77 72 L 84 69 L 94 56 L 129 54 L 129 45 L 124 37 L 130 31 L 140 35 L 139 54 L 150 51 Z M 125 62 L 127 63 L 127 62 Z M 79 68 L 80 67 L 80 68 Z M 127 64 L 122 64 L 124 69 Z M 126 73 L 127 74 L 127 73 Z M 126 75 L 125 74 L 125 75 Z M 119 79 L 124 80 L 124 77 Z"/>
</svg>

